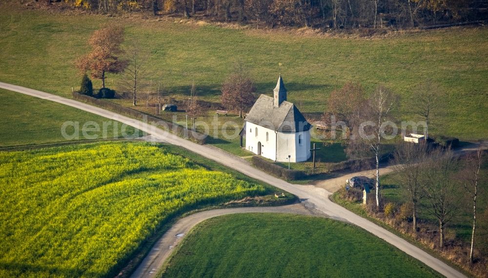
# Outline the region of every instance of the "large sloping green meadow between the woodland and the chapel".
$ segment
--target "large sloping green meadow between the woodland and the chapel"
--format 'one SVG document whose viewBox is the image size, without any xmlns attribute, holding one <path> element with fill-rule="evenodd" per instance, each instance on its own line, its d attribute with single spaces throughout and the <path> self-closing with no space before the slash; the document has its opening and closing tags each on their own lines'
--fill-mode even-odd
<svg viewBox="0 0 488 278">
<path fill-rule="evenodd" d="M 406 99 L 430 78 L 448 95 L 443 125 L 432 125 L 431 133 L 487 138 L 486 27 L 355 39 L 158 21 L 149 15 L 58 14 L 10 1 L 0 8 L 0 80 L 5 82 L 69 97 L 81 80 L 74 60 L 89 50 L 90 34 L 101 23 L 119 22 L 126 25 L 127 43 L 137 41 L 147 53 L 145 76 L 161 82 L 166 95 L 185 99 L 194 81 L 201 99 L 218 101 L 233 63 L 243 60 L 258 93 L 271 94 L 281 72 L 288 99 L 303 112 L 322 113 L 333 89 L 359 81 L 368 92 L 383 84 L 405 97 L 397 115 L 412 119 Z M 109 75 L 107 85 L 117 87 L 119 78 Z M 95 87 L 100 85 L 96 80 Z"/>
</svg>

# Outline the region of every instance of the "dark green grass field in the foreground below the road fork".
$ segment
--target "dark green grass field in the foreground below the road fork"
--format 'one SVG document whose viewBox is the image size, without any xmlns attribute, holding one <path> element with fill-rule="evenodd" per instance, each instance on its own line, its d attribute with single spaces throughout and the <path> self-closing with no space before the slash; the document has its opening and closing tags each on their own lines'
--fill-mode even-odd
<svg viewBox="0 0 488 278">
<path fill-rule="evenodd" d="M 187 235 L 162 275 L 358 276 L 440 277 L 356 226 L 286 214 L 239 214 L 206 220 Z"/>
</svg>

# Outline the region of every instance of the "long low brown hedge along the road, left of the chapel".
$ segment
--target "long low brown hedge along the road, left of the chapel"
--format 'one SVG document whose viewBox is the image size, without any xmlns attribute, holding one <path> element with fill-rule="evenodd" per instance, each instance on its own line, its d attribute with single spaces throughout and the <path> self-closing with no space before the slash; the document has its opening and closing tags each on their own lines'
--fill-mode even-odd
<svg viewBox="0 0 488 278">
<path fill-rule="evenodd" d="M 110 101 L 106 101 L 103 99 L 96 99 L 94 97 L 86 96 L 86 95 L 81 95 L 78 92 L 73 92 L 73 99 L 76 100 L 81 100 L 83 102 L 89 102 L 93 103 L 98 107 L 105 108 L 107 110 L 111 110 L 117 113 L 120 113 L 122 115 L 135 118 L 135 119 L 142 119 L 144 121 L 147 121 L 150 124 L 154 124 L 156 126 L 162 127 L 164 130 L 170 131 L 180 137 L 183 137 L 184 139 L 189 139 L 191 141 L 194 141 L 198 144 L 203 145 L 207 139 L 207 135 L 198 133 L 193 130 L 189 130 L 184 128 L 181 125 L 174 124 L 169 121 L 164 121 L 162 119 L 158 119 L 156 117 L 147 115 L 145 113 L 142 113 L 140 111 L 124 107 L 122 105 L 119 105 L 117 103 L 113 103 Z"/>
</svg>

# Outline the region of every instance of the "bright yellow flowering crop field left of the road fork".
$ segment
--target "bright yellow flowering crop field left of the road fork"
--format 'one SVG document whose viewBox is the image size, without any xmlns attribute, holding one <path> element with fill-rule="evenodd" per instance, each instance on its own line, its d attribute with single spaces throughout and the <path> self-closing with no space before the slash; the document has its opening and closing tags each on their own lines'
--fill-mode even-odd
<svg viewBox="0 0 488 278">
<path fill-rule="evenodd" d="M 171 218 L 273 192 L 162 148 L 111 142 L 0 152 L 0 276 L 114 276 Z"/>
</svg>

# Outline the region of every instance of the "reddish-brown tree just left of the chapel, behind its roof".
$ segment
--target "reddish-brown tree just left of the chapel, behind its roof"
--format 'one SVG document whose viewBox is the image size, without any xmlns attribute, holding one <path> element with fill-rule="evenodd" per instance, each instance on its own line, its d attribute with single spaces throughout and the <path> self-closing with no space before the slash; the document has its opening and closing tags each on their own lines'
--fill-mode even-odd
<svg viewBox="0 0 488 278">
<path fill-rule="evenodd" d="M 222 104 L 227 109 L 238 110 L 239 117 L 242 118 L 243 111 L 250 108 L 256 101 L 255 91 L 256 88 L 249 73 L 244 68 L 244 64 L 239 62 L 222 85 Z"/>
</svg>

